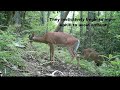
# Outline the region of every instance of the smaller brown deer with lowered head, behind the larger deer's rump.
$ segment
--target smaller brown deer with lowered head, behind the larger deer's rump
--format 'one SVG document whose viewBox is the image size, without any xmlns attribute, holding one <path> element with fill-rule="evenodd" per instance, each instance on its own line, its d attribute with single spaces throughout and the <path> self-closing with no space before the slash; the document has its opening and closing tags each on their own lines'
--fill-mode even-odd
<svg viewBox="0 0 120 90">
<path fill-rule="evenodd" d="M 103 60 L 102 57 L 94 49 L 91 48 L 84 49 L 82 54 L 85 59 L 93 60 L 97 66 L 100 66 L 102 64 L 102 60 Z"/>
</svg>

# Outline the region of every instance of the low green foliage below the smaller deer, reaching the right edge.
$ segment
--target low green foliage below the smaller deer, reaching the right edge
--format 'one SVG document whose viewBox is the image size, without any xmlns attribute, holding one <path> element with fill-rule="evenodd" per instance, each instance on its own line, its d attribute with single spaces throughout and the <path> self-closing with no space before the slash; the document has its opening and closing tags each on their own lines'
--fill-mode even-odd
<svg viewBox="0 0 120 90">
<path fill-rule="evenodd" d="M 120 76 L 120 59 L 118 58 L 118 55 L 116 56 L 109 55 L 109 57 L 107 56 L 103 57 L 106 57 L 108 60 L 111 60 L 113 58 L 116 59 L 114 61 L 103 61 L 103 64 L 99 67 L 95 66 L 95 63 L 93 61 L 81 59 L 79 66 L 82 69 L 85 69 L 91 73 L 100 76 Z"/>
</svg>

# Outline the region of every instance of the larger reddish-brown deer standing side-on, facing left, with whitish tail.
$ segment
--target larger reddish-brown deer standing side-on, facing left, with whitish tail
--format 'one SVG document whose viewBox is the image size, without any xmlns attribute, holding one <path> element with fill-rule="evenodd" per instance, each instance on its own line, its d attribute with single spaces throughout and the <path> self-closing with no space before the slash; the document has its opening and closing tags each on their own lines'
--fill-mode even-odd
<svg viewBox="0 0 120 90">
<path fill-rule="evenodd" d="M 54 62 L 54 45 L 65 46 L 72 57 L 72 60 L 77 56 L 77 49 L 79 48 L 79 39 L 63 32 L 48 32 L 43 36 L 29 36 L 29 39 L 34 42 L 41 42 L 50 46 L 50 60 Z M 72 61 L 71 60 L 71 61 Z"/>
</svg>

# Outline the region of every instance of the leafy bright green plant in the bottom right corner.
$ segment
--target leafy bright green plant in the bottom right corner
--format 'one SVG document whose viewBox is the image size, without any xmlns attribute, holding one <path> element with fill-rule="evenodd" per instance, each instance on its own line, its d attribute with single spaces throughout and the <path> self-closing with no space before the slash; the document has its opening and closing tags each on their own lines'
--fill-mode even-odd
<svg viewBox="0 0 120 90">
<path fill-rule="evenodd" d="M 120 55 L 103 56 L 107 59 L 101 67 L 98 67 L 102 76 L 120 76 Z"/>
</svg>

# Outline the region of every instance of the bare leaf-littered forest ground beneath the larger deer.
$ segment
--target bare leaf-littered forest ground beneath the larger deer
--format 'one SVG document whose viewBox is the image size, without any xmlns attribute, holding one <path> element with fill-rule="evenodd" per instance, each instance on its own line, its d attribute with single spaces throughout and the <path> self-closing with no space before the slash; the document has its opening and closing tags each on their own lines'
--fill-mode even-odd
<svg viewBox="0 0 120 90">
<path fill-rule="evenodd" d="M 35 59 L 32 55 L 26 55 L 25 59 L 26 68 L 23 72 L 25 76 L 99 76 L 95 73 L 90 73 L 85 69 L 65 63 L 64 60 L 55 60 L 54 65 L 48 60 L 48 55 L 45 55 L 42 60 Z M 42 64 L 41 64 L 42 63 Z"/>
</svg>

